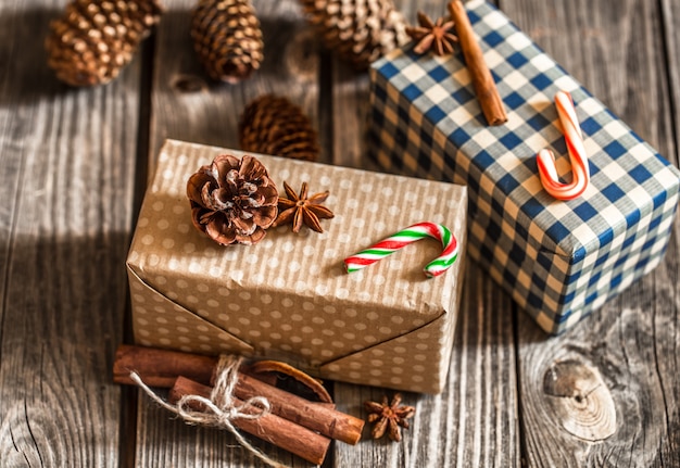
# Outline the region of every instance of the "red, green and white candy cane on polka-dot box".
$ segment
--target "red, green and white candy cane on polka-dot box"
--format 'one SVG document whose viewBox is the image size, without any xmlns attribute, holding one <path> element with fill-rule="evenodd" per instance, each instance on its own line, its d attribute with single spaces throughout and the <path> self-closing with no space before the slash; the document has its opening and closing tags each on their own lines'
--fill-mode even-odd
<svg viewBox="0 0 680 468">
<path fill-rule="evenodd" d="M 347 273 L 356 271 L 370 264 L 376 263 L 380 258 L 394 253 L 398 249 L 403 248 L 417 240 L 431 237 L 442 243 L 444 250 L 441 255 L 428 263 L 423 273 L 428 278 L 441 275 L 455 262 L 458 256 L 458 242 L 455 236 L 444 226 L 435 223 L 418 223 L 407 227 L 387 239 L 369 246 L 344 260 L 344 268 Z"/>
</svg>

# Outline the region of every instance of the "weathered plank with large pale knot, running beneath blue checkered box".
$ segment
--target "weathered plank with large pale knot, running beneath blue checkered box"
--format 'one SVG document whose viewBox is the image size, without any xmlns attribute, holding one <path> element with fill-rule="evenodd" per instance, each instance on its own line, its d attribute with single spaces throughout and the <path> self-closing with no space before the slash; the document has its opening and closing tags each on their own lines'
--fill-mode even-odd
<svg viewBox="0 0 680 468">
<path fill-rule="evenodd" d="M 503 2 L 541 47 L 677 164 L 658 5 Z M 678 355 L 678 292 L 676 236 L 659 268 L 564 336 L 547 339 L 519 316 L 529 465 L 679 463 L 679 368 L 669 358 Z"/>
</svg>

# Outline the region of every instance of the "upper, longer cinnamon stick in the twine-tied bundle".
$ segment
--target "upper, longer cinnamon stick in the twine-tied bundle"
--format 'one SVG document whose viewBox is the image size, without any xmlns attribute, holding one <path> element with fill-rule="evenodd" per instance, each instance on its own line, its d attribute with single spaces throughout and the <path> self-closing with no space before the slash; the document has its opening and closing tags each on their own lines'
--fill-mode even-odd
<svg viewBox="0 0 680 468">
<path fill-rule="evenodd" d="M 113 380 L 116 383 L 135 384 L 129 377 L 134 370 L 149 387 L 172 388 L 179 376 L 191 376 L 191 380 L 210 384 L 216 364 L 214 357 L 121 345 L 113 364 Z M 293 395 L 240 371 L 234 395 L 241 400 L 263 396 L 269 401 L 273 414 L 352 445 L 358 442 L 364 428 L 363 419 Z"/>
</svg>

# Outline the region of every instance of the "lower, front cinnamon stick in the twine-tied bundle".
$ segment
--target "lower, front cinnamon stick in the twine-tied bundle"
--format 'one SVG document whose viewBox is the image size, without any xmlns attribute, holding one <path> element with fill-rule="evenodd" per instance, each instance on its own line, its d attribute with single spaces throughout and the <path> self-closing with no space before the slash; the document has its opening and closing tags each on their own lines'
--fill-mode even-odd
<svg viewBox="0 0 680 468">
<path fill-rule="evenodd" d="M 180 376 L 169 391 L 168 401 L 176 404 L 184 395 L 210 397 L 211 391 L 212 388 Z M 243 403 L 242 400 L 234 400 L 237 405 Z M 200 404 L 190 406 L 198 412 L 204 410 Z M 248 414 L 254 412 L 254 408 L 244 410 Z M 230 421 L 243 432 L 255 435 L 316 465 L 324 463 L 330 445 L 330 439 L 273 414 L 263 415 L 257 419 L 234 418 Z"/>
</svg>

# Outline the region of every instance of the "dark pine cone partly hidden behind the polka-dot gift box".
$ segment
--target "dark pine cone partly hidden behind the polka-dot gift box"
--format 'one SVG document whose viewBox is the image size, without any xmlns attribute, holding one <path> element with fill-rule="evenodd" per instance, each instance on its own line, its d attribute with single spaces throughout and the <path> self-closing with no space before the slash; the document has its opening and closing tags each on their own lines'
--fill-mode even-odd
<svg viewBox="0 0 680 468">
<path fill-rule="evenodd" d="M 286 98 L 266 94 L 245 106 L 239 122 L 241 150 L 316 161 L 316 130 L 300 107 Z"/>
</svg>

